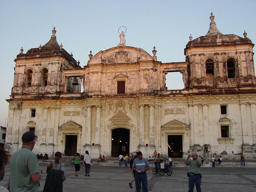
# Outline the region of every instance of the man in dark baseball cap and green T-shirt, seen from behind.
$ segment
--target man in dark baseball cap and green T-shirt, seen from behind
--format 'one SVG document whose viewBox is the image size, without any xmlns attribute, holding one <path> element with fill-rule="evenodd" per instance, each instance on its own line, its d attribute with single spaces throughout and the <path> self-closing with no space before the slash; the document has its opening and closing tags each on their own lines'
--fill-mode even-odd
<svg viewBox="0 0 256 192">
<path fill-rule="evenodd" d="M 25 132 L 22 147 L 12 154 L 10 159 L 10 191 L 38 191 L 38 182 L 42 177 L 38 159 L 32 152 L 37 136 L 33 132 Z"/>
</svg>

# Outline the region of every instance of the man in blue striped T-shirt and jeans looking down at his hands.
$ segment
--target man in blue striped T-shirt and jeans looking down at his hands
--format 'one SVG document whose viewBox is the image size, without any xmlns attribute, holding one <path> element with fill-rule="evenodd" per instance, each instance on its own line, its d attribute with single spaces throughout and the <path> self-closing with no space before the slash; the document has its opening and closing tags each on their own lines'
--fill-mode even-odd
<svg viewBox="0 0 256 192">
<path fill-rule="evenodd" d="M 148 192 L 148 180 L 146 171 L 149 170 L 149 161 L 142 157 L 142 152 L 137 153 L 138 158 L 134 159 L 132 169 L 136 171 L 135 186 L 136 192 L 140 192 L 142 185 L 142 192 Z"/>
</svg>

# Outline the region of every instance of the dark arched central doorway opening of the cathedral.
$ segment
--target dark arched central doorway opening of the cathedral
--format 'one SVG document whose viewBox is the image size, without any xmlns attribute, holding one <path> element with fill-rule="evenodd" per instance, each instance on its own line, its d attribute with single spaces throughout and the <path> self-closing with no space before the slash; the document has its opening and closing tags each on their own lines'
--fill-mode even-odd
<svg viewBox="0 0 256 192">
<path fill-rule="evenodd" d="M 130 152 L 130 130 L 117 128 L 112 130 L 111 156 L 118 157 L 119 154 L 126 155 Z"/>
</svg>

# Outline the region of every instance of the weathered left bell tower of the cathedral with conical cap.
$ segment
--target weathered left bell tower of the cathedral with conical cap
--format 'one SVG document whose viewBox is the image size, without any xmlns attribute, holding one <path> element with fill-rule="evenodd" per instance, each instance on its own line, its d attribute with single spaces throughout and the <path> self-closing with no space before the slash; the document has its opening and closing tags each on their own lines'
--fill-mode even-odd
<svg viewBox="0 0 256 192">
<path fill-rule="evenodd" d="M 19 53 L 14 72 L 11 98 L 26 98 L 34 95 L 59 94 L 62 90 L 62 70 L 81 68 L 72 53 L 59 45 L 53 27 L 51 39 L 43 46 Z"/>
</svg>

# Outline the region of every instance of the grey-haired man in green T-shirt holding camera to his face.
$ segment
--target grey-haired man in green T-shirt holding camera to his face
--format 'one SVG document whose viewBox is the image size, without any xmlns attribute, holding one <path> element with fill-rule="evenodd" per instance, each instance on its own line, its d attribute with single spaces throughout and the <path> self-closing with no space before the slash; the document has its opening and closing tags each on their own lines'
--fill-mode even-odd
<svg viewBox="0 0 256 192">
<path fill-rule="evenodd" d="M 192 157 L 193 159 L 190 159 Z M 188 192 L 194 191 L 194 185 L 196 185 L 196 191 L 201 192 L 201 173 L 200 173 L 200 167 L 201 167 L 201 160 L 197 159 L 197 152 L 192 151 L 191 155 L 188 154 L 187 159 L 185 160 L 185 165 L 189 165 L 188 168 Z"/>
</svg>

